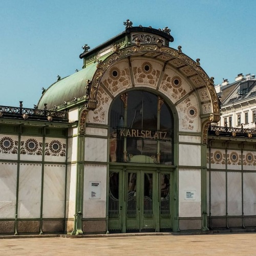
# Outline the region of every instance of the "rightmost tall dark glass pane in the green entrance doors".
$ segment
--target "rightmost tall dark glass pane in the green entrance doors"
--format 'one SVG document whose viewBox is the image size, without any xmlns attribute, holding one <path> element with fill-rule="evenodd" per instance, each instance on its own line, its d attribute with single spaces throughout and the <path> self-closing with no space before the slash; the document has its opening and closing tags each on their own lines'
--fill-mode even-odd
<svg viewBox="0 0 256 256">
<path fill-rule="evenodd" d="M 170 217 L 170 177 L 168 174 L 160 175 L 160 185 L 161 185 L 161 210 L 160 214 L 163 218 Z"/>
</svg>

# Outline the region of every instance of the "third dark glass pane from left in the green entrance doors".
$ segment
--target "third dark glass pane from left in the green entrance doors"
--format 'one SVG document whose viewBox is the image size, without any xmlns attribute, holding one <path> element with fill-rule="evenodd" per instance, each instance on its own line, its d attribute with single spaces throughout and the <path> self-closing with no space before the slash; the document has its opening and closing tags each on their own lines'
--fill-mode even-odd
<svg viewBox="0 0 256 256">
<path fill-rule="evenodd" d="M 144 217 L 153 217 L 153 174 L 144 174 Z"/>
</svg>

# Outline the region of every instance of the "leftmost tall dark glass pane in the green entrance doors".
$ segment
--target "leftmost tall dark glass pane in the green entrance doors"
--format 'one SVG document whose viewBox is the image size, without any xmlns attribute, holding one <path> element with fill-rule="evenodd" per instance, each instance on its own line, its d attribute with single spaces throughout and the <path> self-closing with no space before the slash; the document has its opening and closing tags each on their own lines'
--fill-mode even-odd
<svg viewBox="0 0 256 256">
<path fill-rule="evenodd" d="M 110 172 L 109 218 L 119 216 L 119 173 Z"/>
</svg>

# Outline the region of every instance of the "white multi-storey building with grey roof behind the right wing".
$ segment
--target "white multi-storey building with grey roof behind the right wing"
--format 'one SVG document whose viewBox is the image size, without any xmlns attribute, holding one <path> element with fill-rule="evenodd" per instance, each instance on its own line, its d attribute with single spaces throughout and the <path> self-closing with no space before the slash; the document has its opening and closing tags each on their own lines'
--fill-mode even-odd
<svg viewBox="0 0 256 256">
<path fill-rule="evenodd" d="M 216 92 L 221 100 L 220 126 L 255 129 L 256 79 L 255 75 L 238 74 L 233 83 L 223 79 Z"/>
</svg>

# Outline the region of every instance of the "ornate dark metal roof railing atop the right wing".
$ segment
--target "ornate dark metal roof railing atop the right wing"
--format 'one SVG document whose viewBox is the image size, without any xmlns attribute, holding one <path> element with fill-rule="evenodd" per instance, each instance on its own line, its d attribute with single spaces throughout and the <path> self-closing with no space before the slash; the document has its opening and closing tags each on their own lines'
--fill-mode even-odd
<svg viewBox="0 0 256 256">
<path fill-rule="evenodd" d="M 227 126 L 210 126 L 208 135 L 225 136 L 225 137 L 244 137 L 256 139 L 256 130 L 227 127 Z"/>
</svg>

